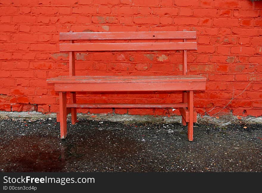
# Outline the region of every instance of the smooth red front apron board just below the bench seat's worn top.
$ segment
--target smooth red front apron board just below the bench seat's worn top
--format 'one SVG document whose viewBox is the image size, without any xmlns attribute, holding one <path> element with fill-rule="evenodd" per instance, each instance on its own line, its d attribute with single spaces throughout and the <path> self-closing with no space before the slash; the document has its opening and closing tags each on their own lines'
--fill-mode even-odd
<svg viewBox="0 0 262 193">
<path fill-rule="evenodd" d="M 205 90 L 206 82 L 122 82 L 122 83 L 55 83 L 55 91 L 63 92 L 121 92 Z"/>
</svg>

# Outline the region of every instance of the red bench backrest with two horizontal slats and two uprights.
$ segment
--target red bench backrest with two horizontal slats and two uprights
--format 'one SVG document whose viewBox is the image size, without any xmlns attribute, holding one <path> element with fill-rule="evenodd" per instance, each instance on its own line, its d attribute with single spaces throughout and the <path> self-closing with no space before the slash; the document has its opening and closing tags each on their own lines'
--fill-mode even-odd
<svg viewBox="0 0 262 193">
<path fill-rule="evenodd" d="M 60 33 L 60 40 L 69 40 L 69 44 L 60 44 L 60 51 L 69 51 L 69 75 L 75 75 L 75 53 L 82 51 L 127 51 L 127 50 L 183 50 L 183 75 L 187 74 L 187 50 L 197 50 L 195 31 L 177 32 L 69 32 Z M 145 40 L 181 39 L 183 42 L 144 42 Z M 143 40 L 142 42 L 121 43 L 74 43 L 74 40 Z"/>
</svg>

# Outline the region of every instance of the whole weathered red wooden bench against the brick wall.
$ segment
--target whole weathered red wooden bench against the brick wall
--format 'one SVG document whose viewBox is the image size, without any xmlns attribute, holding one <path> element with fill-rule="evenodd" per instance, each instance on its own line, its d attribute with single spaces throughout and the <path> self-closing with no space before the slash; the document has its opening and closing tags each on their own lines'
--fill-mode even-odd
<svg viewBox="0 0 262 193">
<path fill-rule="evenodd" d="M 158 40 L 158 42 L 155 41 Z M 162 41 L 161 39 L 180 39 L 180 42 Z M 187 75 L 187 50 L 197 50 L 195 31 L 177 32 L 92 32 L 92 33 L 60 33 L 60 40 L 69 43 L 60 44 L 61 52 L 69 52 L 69 76 L 50 78 L 54 90 L 59 92 L 61 138 L 66 138 L 66 116 L 71 112 L 72 124 L 77 122 L 76 108 L 178 108 L 182 115 L 182 124 L 188 122 L 188 140 L 193 140 L 193 122 L 197 113 L 193 109 L 193 91 L 205 90 L 206 78 Z M 74 43 L 74 41 L 88 42 Z M 121 42 L 105 43 L 101 40 L 143 40 L 139 43 Z M 92 41 L 92 42 L 90 42 Z M 95 42 L 94 42 L 95 41 Z M 98 41 L 98 42 L 97 42 Z M 181 75 L 169 76 L 76 76 L 75 52 L 93 51 L 128 51 L 128 50 L 183 50 L 183 72 Z M 97 53 L 99 54 L 99 53 Z M 130 91 L 183 91 L 182 103 L 178 104 L 78 104 L 76 92 L 130 92 Z M 70 102 L 66 103 L 66 92 L 70 92 Z"/>
</svg>

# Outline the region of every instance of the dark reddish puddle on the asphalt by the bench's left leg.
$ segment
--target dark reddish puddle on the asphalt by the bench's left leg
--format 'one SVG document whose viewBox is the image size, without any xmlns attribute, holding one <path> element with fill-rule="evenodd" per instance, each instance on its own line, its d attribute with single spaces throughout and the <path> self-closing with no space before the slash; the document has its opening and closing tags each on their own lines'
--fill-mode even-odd
<svg viewBox="0 0 262 193">
<path fill-rule="evenodd" d="M 92 162 L 107 165 L 130 159 L 141 151 L 141 145 L 110 131 L 87 129 L 72 132 L 66 140 L 51 135 L 17 136 L 0 150 L 2 172 L 63 172 L 68 167 L 85 168 Z"/>
</svg>

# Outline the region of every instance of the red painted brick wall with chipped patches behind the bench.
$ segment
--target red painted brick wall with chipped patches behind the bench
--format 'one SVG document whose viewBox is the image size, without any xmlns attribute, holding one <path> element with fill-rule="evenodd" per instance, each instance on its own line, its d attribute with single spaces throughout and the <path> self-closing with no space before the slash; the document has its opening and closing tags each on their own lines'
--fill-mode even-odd
<svg viewBox="0 0 262 193">
<path fill-rule="evenodd" d="M 195 93 L 200 114 L 262 114 L 262 2 L 249 0 L 0 0 L 0 110 L 57 112 L 46 79 L 68 75 L 68 53 L 59 53 L 59 32 L 196 30 L 198 50 L 189 74 L 207 77 Z M 78 75 L 171 75 L 181 53 L 77 54 Z M 174 94 L 79 93 L 79 102 L 179 102 Z M 233 98 L 233 100 L 231 100 Z M 112 112 L 89 109 L 79 112 Z M 172 109 L 116 109 L 130 115 L 173 115 Z"/>
</svg>

